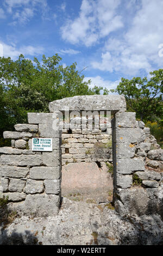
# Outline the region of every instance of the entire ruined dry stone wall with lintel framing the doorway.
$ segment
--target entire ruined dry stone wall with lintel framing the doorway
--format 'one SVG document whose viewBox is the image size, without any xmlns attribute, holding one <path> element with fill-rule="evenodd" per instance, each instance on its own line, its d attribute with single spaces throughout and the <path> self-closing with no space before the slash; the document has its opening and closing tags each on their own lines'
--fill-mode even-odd
<svg viewBox="0 0 163 256">
<path fill-rule="evenodd" d="M 112 111 L 112 135 L 79 126 L 61 137 L 55 111 L 64 111 L 65 106 L 72 111 Z M 135 113 L 126 112 L 124 96 L 75 96 L 51 102 L 49 109 L 52 113 L 29 113 L 29 124 L 17 124 L 16 131 L 4 132 L 11 147 L 0 148 L 0 186 L 11 206 L 23 214 L 58 214 L 62 154 L 63 166 L 112 160 L 115 209 L 120 214 L 158 213 L 163 218 L 163 150 L 150 130 L 136 121 Z M 110 136 L 112 152 L 109 147 L 96 147 L 109 145 Z M 33 137 L 52 138 L 52 152 L 32 151 Z"/>
</svg>

